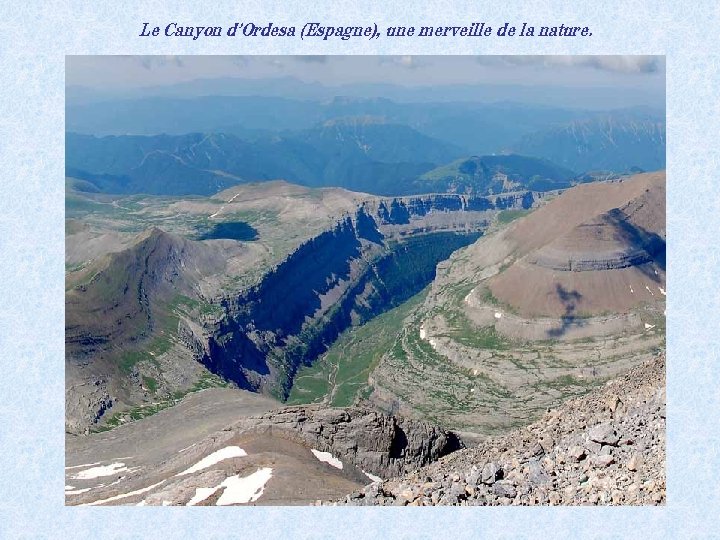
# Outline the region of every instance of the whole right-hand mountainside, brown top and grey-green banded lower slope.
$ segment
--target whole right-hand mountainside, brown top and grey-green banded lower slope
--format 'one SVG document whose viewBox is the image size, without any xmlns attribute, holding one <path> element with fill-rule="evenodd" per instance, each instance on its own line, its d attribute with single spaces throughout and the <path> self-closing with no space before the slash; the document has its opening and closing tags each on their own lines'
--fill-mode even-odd
<svg viewBox="0 0 720 540">
<path fill-rule="evenodd" d="M 665 175 L 574 187 L 438 267 L 370 400 L 504 433 L 665 346 Z"/>
</svg>

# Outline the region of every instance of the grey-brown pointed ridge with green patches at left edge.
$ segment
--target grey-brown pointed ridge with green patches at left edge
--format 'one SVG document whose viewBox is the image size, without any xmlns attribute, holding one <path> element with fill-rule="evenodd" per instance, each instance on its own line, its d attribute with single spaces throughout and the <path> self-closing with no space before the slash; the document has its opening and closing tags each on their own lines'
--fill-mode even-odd
<svg viewBox="0 0 720 540">
<path fill-rule="evenodd" d="M 152 229 L 85 270 L 65 297 L 68 431 L 85 430 L 113 406 L 187 390 L 208 375 L 177 340 L 178 321 L 214 313 L 198 300 L 196 285 L 225 268 L 227 251 L 241 249 Z"/>
</svg>

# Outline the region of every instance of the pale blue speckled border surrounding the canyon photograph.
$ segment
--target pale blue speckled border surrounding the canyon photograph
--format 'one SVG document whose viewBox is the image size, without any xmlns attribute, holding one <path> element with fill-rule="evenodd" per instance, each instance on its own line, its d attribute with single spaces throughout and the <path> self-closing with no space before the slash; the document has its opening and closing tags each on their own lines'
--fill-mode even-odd
<svg viewBox="0 0 720 540">
<path fill-rule="evenodd" d="M 192 7 L 191 7 L 192 4 Z M 25 0 L 0 12 L 0 538 L 720 537 L 720 3 Z M 310 7 L 312 6 L 312 7 Z M 589 39 L 137 37 L 141 21 L 590 25 Z M 668 504 L 661 508 L 65 508 L 66 54 L 665 54 Z"/>
</svg>

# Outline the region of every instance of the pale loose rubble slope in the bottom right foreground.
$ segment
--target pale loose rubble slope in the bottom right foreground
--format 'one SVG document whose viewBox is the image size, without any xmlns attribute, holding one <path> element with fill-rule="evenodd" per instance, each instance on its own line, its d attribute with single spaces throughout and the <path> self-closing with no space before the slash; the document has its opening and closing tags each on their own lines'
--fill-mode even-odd
<svg viewBox="0 0 720 540">
<path fill-rule="evenodd" d="M 658 505 L 665 496 L 661 355 L 530 426 L 323 504 Z"/>
</svg>

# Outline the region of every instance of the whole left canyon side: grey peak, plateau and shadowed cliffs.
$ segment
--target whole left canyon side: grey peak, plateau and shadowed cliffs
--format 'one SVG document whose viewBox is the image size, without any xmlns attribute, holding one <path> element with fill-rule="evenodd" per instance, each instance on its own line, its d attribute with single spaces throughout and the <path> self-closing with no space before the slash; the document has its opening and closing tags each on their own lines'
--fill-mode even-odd
<svg viewBox="0 0 720 540">
<path fill-rule="evenodd" d="M 285 398 L 297 369 L 340 332 L 423 289 L 498 211 L 535 200 L 385 199 L 284 182 L 212 199 L 71 195 L 71 432 L 113 427 L 227 381 Z M 174 232 L 131 232 L 158 223 Z"/>
</svg>

